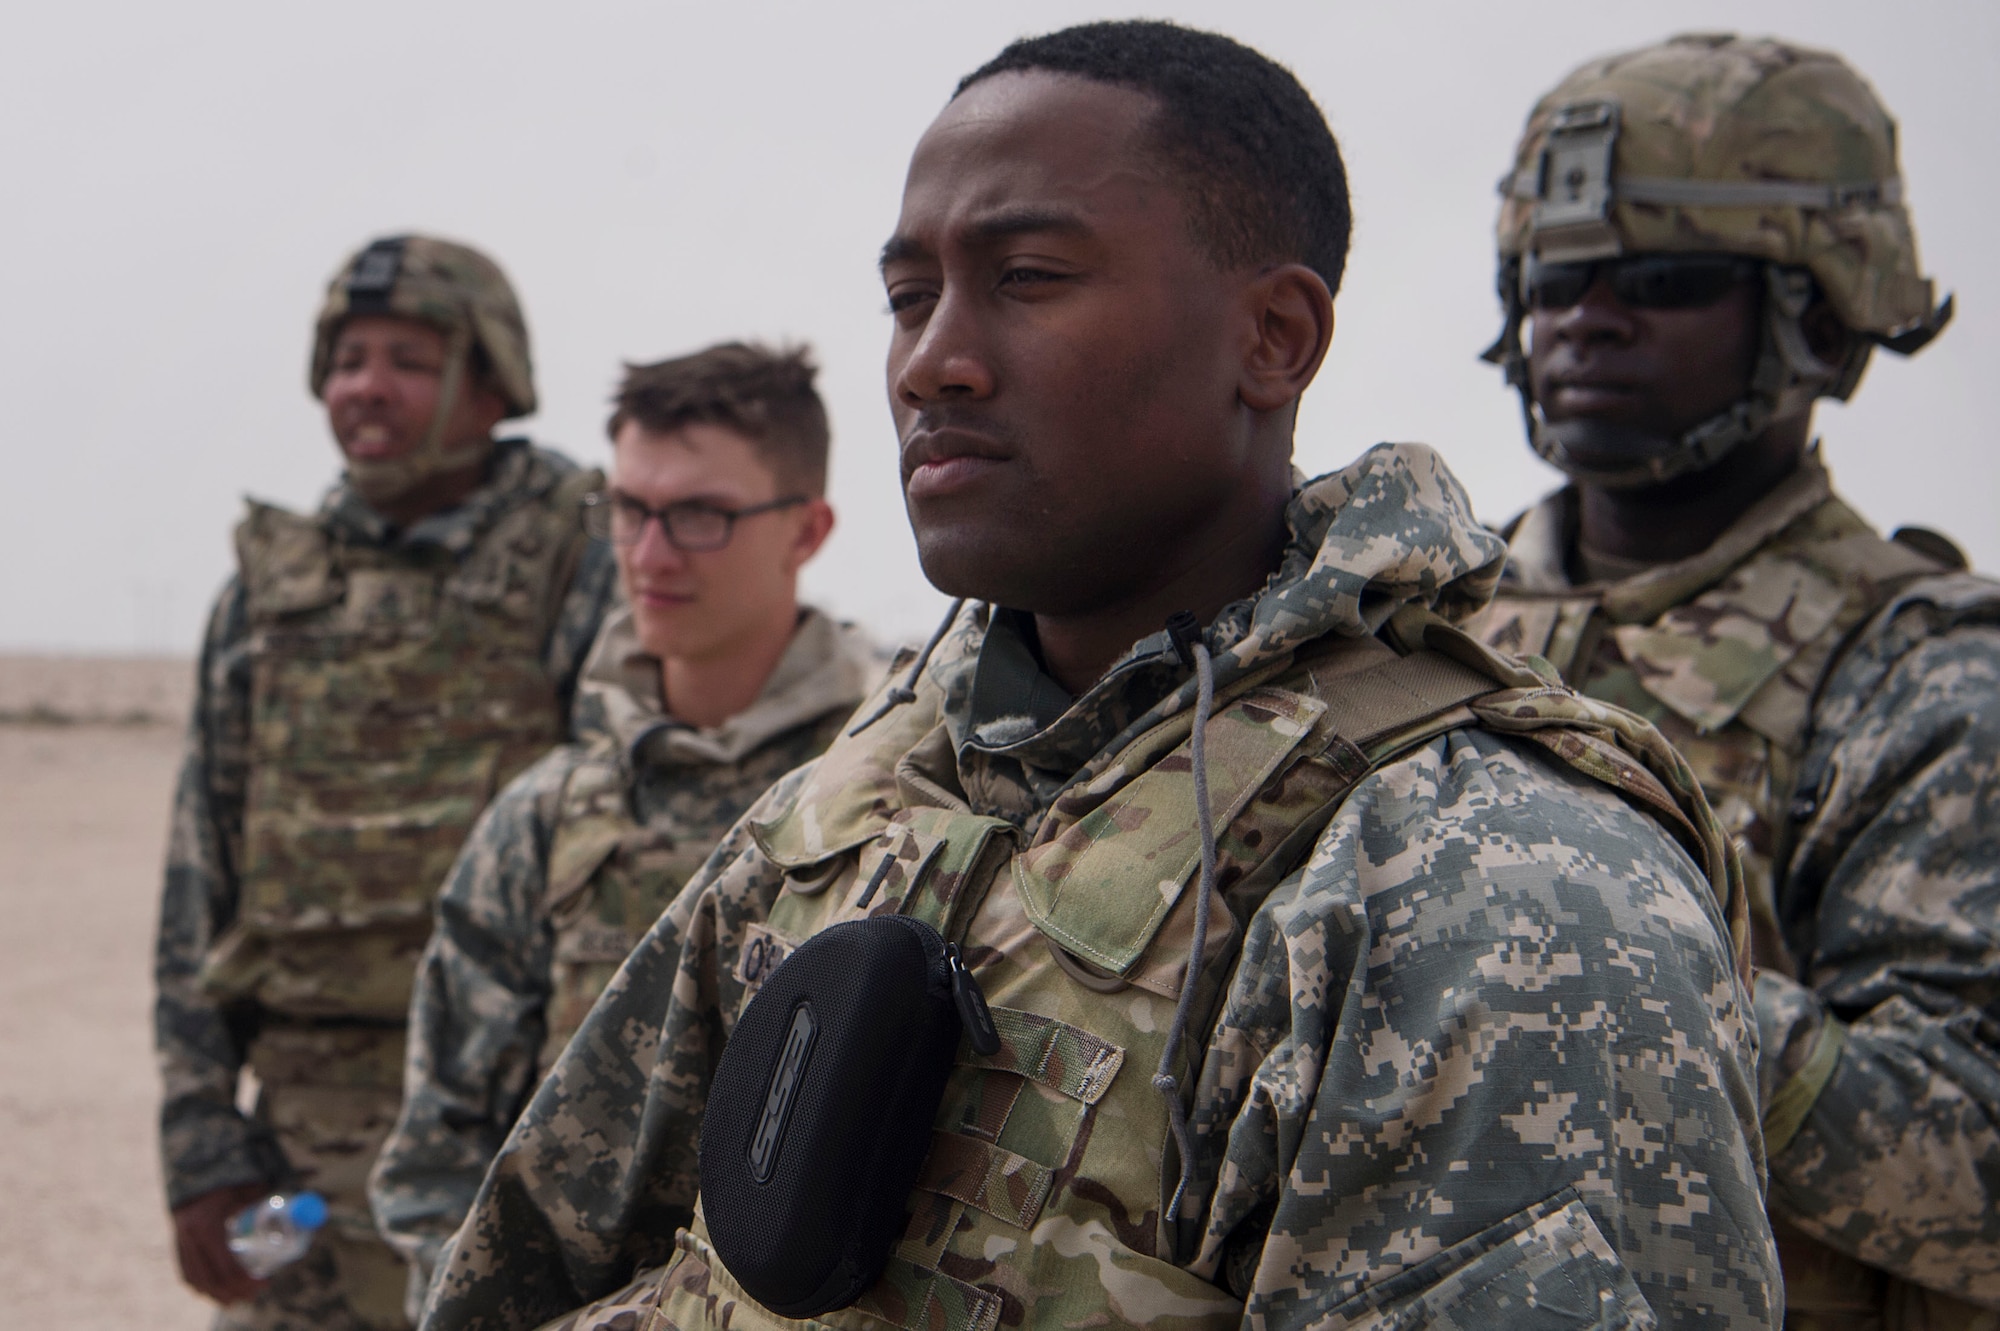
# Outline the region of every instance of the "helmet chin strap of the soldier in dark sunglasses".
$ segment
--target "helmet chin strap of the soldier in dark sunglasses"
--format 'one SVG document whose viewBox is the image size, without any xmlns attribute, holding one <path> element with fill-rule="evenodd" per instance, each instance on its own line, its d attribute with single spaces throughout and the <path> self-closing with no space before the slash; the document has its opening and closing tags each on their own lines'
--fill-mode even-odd
<svg viewBox="0 0 2000 1331">
<path fill-rule="evenodd" d="M 1764 332 L 1750 372 L 1750 392 L 1742 398 L 1680 436 L 1588 420 L 1552 422 L 1542 416 L 1534 400 L 1528 356 L 1520 346 L 1526 310 L 1512 274 L 1512 264 L 1502 268 L 1500 280 L 1508 288 L 1506 328 L 1486 350 L 1486 360 L 1498 362 L 1506 370 L 1508 384 L 1520 392 L 1520 410 L 1534 452 L 1580 486 L 1638 490 L 1704 472 L 1764 434 L 1774 420 L 1804 410 L 1816 398 L 1846 400 L 1868 362 L 1870 348 L 1864 338 L 1852 340 L 1852 350 L 1840 364 L 1830 366 L 1814 356 L 1800 324 L 1806 306 L 1812 304 L 1812 278 L 1796 268 L 1764 264 Z M 1616 454 L 1630 462 L 1604 462 Z"/>
</svg>

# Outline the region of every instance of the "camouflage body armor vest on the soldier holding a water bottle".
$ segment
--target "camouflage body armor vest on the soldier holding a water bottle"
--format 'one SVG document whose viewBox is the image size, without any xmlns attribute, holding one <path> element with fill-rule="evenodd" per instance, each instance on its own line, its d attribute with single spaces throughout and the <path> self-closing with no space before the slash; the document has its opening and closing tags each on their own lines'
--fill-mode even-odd
<svg viewBox="0 0 2000 1331">
<path fill-rule="evenodd" d="M 430 903 L 494 791 L 558 743 L 544 648 L 596 472 L 550 478 L 476 546 L 382 550 L 252 504 L 240 901 L 204 963 L 224 1001 L 400 1025 Z"/>
</svg>

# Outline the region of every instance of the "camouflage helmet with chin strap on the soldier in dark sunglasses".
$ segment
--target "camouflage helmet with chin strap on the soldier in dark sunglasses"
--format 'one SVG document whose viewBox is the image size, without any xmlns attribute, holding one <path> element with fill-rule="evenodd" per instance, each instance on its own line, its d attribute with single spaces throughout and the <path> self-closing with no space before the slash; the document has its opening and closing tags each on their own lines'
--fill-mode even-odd
<svg viewBox="0 0 2000 1331">
<path fill-rule="evenodd" d="M 1702 470 L 1814 398 L 1846 400 L 1868 356 L 1924 348 L 1952 318 L 1916 258 L 1896 122 L 1834 54 L 1686 34 L 1592 60 L 1528 116 L 1500 180 L 1500 300 L 1486 360 L 1520 392 L 1536 452 L 1600 486 Z M 1748 394 L 1620 470 L 1582 466 L 1534 402 L 1520 342 L 1532 264 L 1618 254 L 1734 254 L 1762 264 L 1764 332 Z M 1848 330 L 1834 362 L 1800 316 L 1824 296 Z"/>
</svg>

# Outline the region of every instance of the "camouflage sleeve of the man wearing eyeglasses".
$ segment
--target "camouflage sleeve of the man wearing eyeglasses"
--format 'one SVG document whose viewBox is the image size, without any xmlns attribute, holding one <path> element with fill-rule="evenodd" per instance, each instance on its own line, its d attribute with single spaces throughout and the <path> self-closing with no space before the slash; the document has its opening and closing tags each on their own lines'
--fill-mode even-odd
<svg viewBox="0 0 2000 1331">
<path fill-rule="evenodd" d="M 520 773 L 466 839 L 418 961 L 404 1101 L 368 1179 L 376 1229 L 428 1285 L 534 1087 L 550 991 L 548 845 L 576 749 Z"/>
</svg>

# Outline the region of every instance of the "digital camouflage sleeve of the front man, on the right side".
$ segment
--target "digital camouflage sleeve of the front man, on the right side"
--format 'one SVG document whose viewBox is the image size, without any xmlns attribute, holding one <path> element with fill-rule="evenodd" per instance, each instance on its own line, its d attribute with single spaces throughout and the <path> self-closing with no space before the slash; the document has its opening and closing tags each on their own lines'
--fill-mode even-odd
<svg viewBox="0 0 2000 1331">
<path fill-rule="evenodd" d="M 1250 919 L 1196 1091 L 1194 1269 L 1258 1331 L 1770 1325 L 1726 939 L 1608 789 L 1488 733 L 1384 767 Z"/>
</svg>

